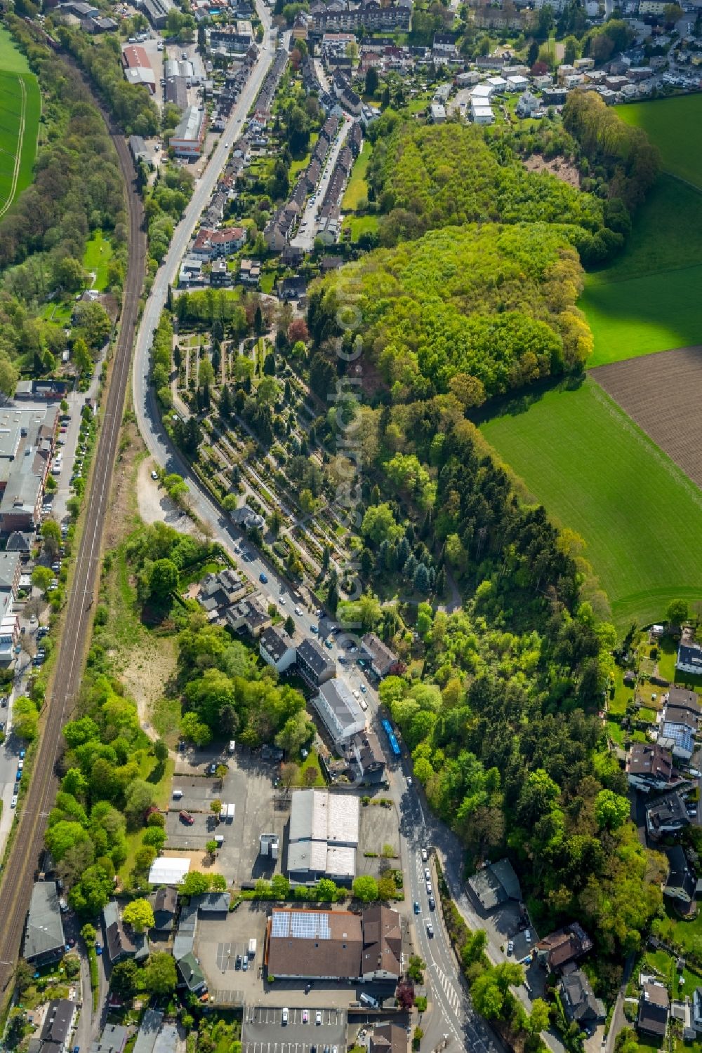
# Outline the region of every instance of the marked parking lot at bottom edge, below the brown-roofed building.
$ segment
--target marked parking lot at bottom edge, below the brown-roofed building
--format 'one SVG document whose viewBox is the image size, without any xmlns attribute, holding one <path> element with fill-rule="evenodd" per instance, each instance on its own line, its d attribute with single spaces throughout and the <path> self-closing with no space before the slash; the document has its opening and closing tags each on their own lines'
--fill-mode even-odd
<svg viewBox="0 0 702 1053">
<path fill-rule="evenodd" d="M 242 1053 L 338 1053 L 346 1050 L 346 1013 L 317 1007 L 288 1009 L 282 1022 L 282 1008 L 247 1007 L 241 1026 Z"/>
</svg>

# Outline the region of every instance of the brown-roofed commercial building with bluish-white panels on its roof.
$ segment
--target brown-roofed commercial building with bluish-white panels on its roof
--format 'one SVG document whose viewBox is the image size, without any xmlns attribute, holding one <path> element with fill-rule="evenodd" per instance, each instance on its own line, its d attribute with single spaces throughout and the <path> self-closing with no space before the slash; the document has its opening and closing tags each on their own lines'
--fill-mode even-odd
<svg viewBox="0 0 702 1053">
<path fill-rule="evenodd" d="M 399 915 L 373 907 L 360 917 L 348 911 L 274 907 L 265 961 L 278 979 L 390 980 L 402 973 Z"/>
</svg>

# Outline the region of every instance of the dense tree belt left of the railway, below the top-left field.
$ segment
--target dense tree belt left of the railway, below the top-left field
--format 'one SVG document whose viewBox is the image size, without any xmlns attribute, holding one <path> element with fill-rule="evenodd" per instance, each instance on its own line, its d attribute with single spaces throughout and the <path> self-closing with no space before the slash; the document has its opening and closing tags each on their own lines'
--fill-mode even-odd
<svg viewBox="0 0 702 1053">
<path fill-rule="evenodd" d="M 42 310 L 56 294 L 83 287 L 85 244 L 96 230 L 112 240 L 108 280 L 119 296 L 126 216 L 117 157 L 80 77 L 19 19 L 8 15 L 7 24 L 42 93 L 35 180 L 0 221 L 0 390 L 9 394 L 20 369 L 51 373 L 64 350 L 65 322 Z"/>
</svg>

